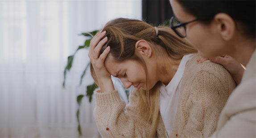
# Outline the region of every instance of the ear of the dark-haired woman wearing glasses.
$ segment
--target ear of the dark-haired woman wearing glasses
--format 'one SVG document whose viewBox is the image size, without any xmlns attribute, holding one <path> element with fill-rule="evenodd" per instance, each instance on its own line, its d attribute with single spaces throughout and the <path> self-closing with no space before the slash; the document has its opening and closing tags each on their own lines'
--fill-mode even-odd
<svg viewBox="0 0 256 138">
<path fill-rule="evenodd" d="M 226 13 L 218 13 L 214 18 L 221 37 L 228 41 L 235 35 L 235 21 Z"/>
</svg>

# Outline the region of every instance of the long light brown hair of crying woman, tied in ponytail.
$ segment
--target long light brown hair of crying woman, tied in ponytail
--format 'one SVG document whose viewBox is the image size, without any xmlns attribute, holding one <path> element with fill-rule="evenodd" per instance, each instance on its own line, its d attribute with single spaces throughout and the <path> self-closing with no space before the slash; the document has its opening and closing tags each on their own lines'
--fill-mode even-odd
<svg viewBox="0 0 256 138">
<path fill-rule="evenodd" d="M 164 55 L 169 56 L 172 59 L 182 59 L 184 55 L 197 52 L 196 49 L 190 46 L 186 39 L 178 37 L 172 29 L 164 26 L 159 26 L 157 28 L 158 35 L 156 35 L 156 29 L 154 27 L 140 20 L 124 18 L 111 20 L 102 29 L 102 31 L 107 32 L 106 36 L 108 40 L 101 49 L 100 54 L 102 54 L 107 46 L 110 46 L 110 54 L 117 62 L 122 62 L 124 60 L 140 61 L 147 76 L 148 72 L 146 64 L 135 51 L 135 44 L 141 39 L 144 39 L 149 43 L 153 52 L 155 51 L 157 53 L 159 51 L 164 51 Z M 161 55 L 162 54 L 163 53 L 161 53 Z M 90 69 L 95 83 L 98 84 L 92 65 Z M 156 134 L 157 118 L 159 115 L 159 88 L 161 84 L 161 82 L 157 82 L 149 91 L 140 89 L 137 93 L 140 97 L 138 107 L 145 111 L 146 114 L 143 115 L 148 117 L 148 121 L 152 124 L 149 137 L 154 137 Z"/>
</svg>

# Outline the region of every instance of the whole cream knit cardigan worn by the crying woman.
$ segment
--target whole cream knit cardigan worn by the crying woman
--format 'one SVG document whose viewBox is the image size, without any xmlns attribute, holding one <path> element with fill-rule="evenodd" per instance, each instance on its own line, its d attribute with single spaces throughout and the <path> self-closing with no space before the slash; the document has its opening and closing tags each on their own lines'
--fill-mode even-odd
<svg viewBox="0 0 256 138">
<path fill-rule="evenodd" d="M 197 64 L 198 54 L 186 64 L 182 77 L 178 110 L 169 137 L 209 137 L 228 96 L 235 88 L 229 72 L 219 64 L 206 61 Z M 102 137 L 149 137 L 150 122 L 142 107 L 136 106 L 140 97 L 132 88 L 129 103 L 120 100 L 118 91 L 95 92 L 94 116 Z M 157 137 L 168 137 L 161 115 Z"/>
</svg>

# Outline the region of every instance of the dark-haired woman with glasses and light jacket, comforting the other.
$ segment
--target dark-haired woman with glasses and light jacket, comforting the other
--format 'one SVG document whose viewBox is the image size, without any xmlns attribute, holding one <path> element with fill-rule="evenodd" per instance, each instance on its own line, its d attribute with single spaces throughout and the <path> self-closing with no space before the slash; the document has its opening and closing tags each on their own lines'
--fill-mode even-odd
<svg viewBox="0 0 256 138">
<path fill-rule="evenodd" d="M 255 138 L 256 1 L 170 0 L 170 3 L 175 15 L 171 28 L 180 37 L 186 37 L 198 49 L 199 55 L 212 58 L 227 54 L 246 67 L 240 84 L 219 116 L 212 136 Z M 232 69 L 229 69 L 232 74 L 239 74 Z M 171 135 L 177 132 L 180 133 L 173 130 Z"/>
</svg>

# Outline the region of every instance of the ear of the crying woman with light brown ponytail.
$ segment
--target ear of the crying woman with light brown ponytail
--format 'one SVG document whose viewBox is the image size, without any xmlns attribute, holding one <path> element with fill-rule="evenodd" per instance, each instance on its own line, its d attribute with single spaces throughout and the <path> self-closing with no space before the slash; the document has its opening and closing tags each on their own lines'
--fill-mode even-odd
<svg viewBox="0 0 256 138">
<path fill-rule="evenodd" d="M 149 46 L 149 43 L 146 40 L 139 40 L 136 42 L 135 50 L 138 51 L 141 55 L 151 57 L 152 48 Z"/>
</svg>

